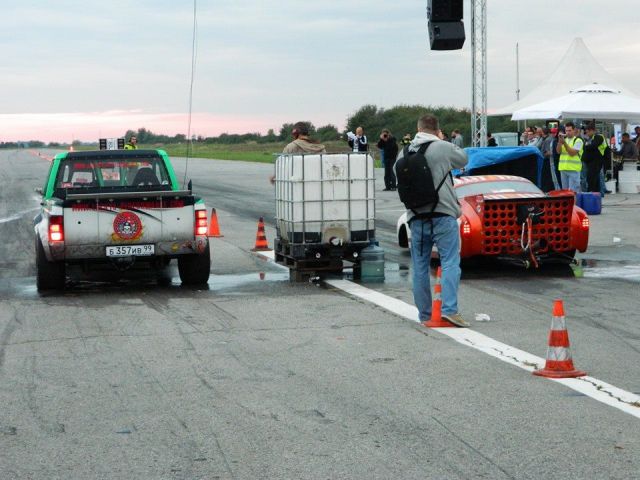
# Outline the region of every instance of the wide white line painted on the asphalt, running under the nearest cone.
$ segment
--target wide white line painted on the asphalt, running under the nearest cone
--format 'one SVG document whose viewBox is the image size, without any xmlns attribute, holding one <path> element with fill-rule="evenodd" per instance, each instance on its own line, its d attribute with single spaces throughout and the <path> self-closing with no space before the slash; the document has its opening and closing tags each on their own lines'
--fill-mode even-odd
<svg viewBox="0 0 640 480">
<path fill-rule="evenodd" d="M 327 280 L 327 285 L 338 288 L 354 297 L 366 300 L 374 305 L 389 310 L 396 315 L 419 323 L 418 309 L 397 298 L 389 297 L 384 293 L 371 290 L 348 280 Z M 540 369 L 544 366 L 545 360 L 531 353 L 512 347 L 505 343 L 494 340 L 482 333 L 468 328 L 432 328 L 443 335 L 452 338 L 456 342 L 467 347 L 475 348 L 483 353 L 491 355 L 503 362 L 520 367 L 528 372 Z M 550 379 L 561 383 L 577 392 L 593 398 L 611 407 L 617 408 L 625 413 L 640 418 L 640 396 L 622 390 L 594 377 L 579 378 L 558 378 Z"/>
</svg>

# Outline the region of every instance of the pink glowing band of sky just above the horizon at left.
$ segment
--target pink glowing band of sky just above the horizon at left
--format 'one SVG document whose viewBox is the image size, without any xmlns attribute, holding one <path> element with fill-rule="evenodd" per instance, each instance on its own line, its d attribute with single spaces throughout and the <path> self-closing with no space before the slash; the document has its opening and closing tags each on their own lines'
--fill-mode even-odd
<svg viewBox="0 0 640 480">
<path fill-rule="evenodd" d="M 217 136 L 221 133 L 266 134 L 270 128 L 277 132 L 282 123 L 283 121 L 275 117 L 194 113 L 191 117 L 191 134 L 204 137 Z M 98 138 L 121 137 L 127 130 L 143 127 L 157 134 L 186 135 L 188 115 L 185 113 L 152 114 L 141 111 L 0 114 L 0 142 L 95 141 Z"/>
</svg>

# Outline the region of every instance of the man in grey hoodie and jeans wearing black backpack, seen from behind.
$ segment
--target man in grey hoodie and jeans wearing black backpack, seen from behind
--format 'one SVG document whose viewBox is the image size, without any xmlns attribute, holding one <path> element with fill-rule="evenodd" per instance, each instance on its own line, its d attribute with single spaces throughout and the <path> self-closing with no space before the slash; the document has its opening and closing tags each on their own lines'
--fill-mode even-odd
<svg viewBox="0 0 640 480">
<path fill-rule="evenodd" d="M 398 155 L 397 188 L 407 207 L 411 229 L 413 298 L 421 322 L 431 318 L 431 250 L 438 247 L 442 266 L 442 316 L 460 327 L 468 327 L 458 311 L 460 284 L 460 235 L 457 219 L 460 205 L 453 190 L 451 170 L 467 164 L 467 154 L 441 140 L 438 119 L 425 114 L 418 120 L 418 133 Z"/>
</svg>

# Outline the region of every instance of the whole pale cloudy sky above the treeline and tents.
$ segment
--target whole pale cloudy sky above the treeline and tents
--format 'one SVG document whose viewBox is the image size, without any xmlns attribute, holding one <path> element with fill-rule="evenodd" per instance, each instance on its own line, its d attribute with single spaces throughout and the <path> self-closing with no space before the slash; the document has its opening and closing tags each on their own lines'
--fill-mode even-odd
<svg viewBox="0 0 640 480">
<path fill-rule="evenodd" d="M 470 0 L 465 26 L 470 33 Z M 638 0 L 487 0 L 489 107 L 524 96 L 574 37 L 640 93 Z M 365 104 L 470 104 L 470 41 L 431 52 L 426 0 L 197 1 L 192 133 L 309 120 Z M 192 0 L 0 0 L 0 141 L 186 133 Z"/>
</svg>

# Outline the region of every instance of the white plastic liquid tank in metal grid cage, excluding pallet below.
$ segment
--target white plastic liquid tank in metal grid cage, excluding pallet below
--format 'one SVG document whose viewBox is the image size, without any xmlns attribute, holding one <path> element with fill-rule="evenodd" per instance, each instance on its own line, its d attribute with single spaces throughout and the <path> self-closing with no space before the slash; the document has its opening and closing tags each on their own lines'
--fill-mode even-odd
<svg viewBox="0 0 640 480">
<path fill-rule="evenodd" d="M 374 232 L 375 177 L 367 153 L 283 154 L 276 159 L 276 221 L 289 243 L 340 245 Z"/>
</svg>

